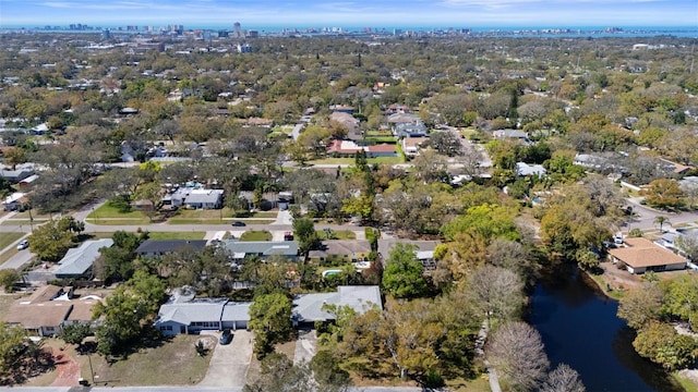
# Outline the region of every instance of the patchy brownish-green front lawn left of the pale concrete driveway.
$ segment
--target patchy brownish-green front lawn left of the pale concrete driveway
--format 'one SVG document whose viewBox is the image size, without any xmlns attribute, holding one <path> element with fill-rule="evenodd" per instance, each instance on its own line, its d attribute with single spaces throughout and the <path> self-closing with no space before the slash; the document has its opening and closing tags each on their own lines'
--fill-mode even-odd
<svg viewBox="0 0 698 392">
<path fill-rule="evenodd" d="M 212 354 L 196 355 L 194 344 L 214 336 L 180 334 L 154 348 L 142 348 L 128 359 L 109 365 L 104 357 L 92 355 L 95 381 L 100 385 L 192 385 L 208 370 Z M 81 357 L 83 378 L 89 380 L 89 363 Z"/>
</svg>

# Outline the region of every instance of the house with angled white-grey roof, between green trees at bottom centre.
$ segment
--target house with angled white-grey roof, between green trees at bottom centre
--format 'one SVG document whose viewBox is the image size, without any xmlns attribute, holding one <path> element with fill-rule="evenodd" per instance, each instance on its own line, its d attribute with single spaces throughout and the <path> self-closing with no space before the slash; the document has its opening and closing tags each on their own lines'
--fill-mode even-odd
<svg viewBox="0 0 698 392">
<path fill-rule="evenodd" d="M 325 305 L 349 306 L 359 315 L 373 307 L 383 309 L 377 285 L 339 286 L 336 293 L 298 294 L 293 297 L 291 311 L 293 327 L 312 328 L 316 321 L 334 320 L 335 316 L 323 309 Z"/>
</svg>

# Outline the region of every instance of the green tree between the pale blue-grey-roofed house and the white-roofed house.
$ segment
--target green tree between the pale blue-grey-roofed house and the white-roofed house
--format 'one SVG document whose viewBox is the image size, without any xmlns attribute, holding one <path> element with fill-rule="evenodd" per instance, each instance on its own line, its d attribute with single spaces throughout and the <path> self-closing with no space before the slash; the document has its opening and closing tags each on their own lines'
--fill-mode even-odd
<svg viewBox="0 0 698 392">
<path fill-rule="evenodd" d="M 275 343 L 286 341 L 291 331 L 291 301 L 284 294 L 257 295 L 250 306 L 250 328 L 255 333 L 254 352 L 262 359 Z"/>
</svg>

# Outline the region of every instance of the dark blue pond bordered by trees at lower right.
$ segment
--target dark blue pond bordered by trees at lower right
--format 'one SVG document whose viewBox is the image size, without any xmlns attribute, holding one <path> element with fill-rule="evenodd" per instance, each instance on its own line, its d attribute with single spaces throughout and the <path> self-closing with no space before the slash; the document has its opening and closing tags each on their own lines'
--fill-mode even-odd
<svg viewBox="0 0 698 392">
<path fill-rule="evenodd" d="M 551 367 L 568 364 L 587 391 L 684 391 L 635 353 L 635 332 L 617 309 L 576 266 L 556 262 L 541 273 L 527 318 L 541 333 Z"/>
</svg>

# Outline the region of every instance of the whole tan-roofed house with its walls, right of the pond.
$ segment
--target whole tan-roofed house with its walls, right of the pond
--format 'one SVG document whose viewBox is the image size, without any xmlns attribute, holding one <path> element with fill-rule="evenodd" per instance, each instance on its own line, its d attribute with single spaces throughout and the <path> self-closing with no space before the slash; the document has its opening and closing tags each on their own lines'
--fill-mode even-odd
<svg viewBox="0 0 698 392">
<path fill-rule="evenodd" d="M 625 238 L 625 246 L 609 249 L 613 262 L 625 264 L 630 273 L 673 271 L 686 268 L 686 259 L 647 238 Z"/>
</svg>

